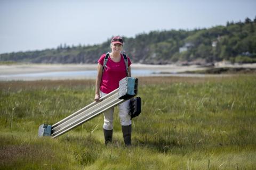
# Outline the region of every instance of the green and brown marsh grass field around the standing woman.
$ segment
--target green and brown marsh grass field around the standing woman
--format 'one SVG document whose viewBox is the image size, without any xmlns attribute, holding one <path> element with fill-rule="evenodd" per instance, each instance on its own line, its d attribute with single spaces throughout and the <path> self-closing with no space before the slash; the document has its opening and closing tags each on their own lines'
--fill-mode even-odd
<svg viewBox="0 0 256 170">
<path fill-rule="evenodd" d="M 57 139 L 38 138 L 94 97 L 93 80 L 0 82 L 0 169 L 255 169 L 256 75 L 139 78 L 142 113 L 124 146 L 118 109 Z"/>
</svg>

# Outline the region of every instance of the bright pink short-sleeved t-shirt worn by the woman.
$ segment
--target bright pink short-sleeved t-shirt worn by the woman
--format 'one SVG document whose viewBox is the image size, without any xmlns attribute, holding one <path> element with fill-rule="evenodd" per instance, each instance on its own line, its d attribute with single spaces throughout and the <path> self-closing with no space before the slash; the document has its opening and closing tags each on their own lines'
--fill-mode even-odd
<svg viewBox="0 0 256 170">
<path fill-rule="evenodd" d="M 102 79 L 100 83 L 100 90 L 105 93 L 109 94 L 111 91 L 117 89 L 119 87 L 119 81 L 126 77 L 126 67 L 124 62 L 124 57 L 122 54 L 121 60 L 119 62 L 114 62 L 111 60 L 110 56 L 108 57 L 108 62 L 106 64 L 106 68 L 102 74 Z M 101 55 L 98 63 L 103 66 L 104 58 L 106 54 Z M 128 59 L 128 66 L 130 66 L 131 60 L 127 56 Z"/>
</svg>

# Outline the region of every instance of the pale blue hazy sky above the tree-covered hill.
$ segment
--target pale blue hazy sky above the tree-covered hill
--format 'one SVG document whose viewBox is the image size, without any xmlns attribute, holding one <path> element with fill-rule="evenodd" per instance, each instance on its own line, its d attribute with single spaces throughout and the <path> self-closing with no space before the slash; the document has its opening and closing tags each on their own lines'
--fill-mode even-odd
<svg viewBox="0 0 256 170">
<path fill-rule="evenodd" d="M 0 54 L 253 20 L 255 0 L 0 0 Z"/>
</svg>

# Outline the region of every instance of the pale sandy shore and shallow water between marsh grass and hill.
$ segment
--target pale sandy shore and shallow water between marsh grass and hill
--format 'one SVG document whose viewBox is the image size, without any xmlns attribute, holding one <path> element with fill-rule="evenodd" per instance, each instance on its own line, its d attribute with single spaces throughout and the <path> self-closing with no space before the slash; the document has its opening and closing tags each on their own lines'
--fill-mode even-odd
<svg viewBox="0 0 256 170">
<path fill-rule="evenodd" d="M 67 80 L 67 79 L 95 79 L 95 75 L 68 75 L 74 72 L 97 71 L 98 64 L 8 64 L 0 65 L 0 81 L 34 81 L 34 80 Z M 202 66 L 202 65 L 179 65 L 179 64 L 166 64 L 166 65 L 149 65 L 133 63 L 131 68 L 133 71 L 150 71 L 150 75 L 138 75 L 138 77 L 226 77 L 228 74 L 198 74 L 207 69 L 216 69 L 222 67 L 231 68 L 250 68 L 256 69 L 254 64 L 218 64 L 215 66 Z M 194 73 L 193 73 L 194 72 Z M 49 73 L 68 73 L 67 75 L 56 75 L 52 77 L 47 75 Z M 34 76 L 33 76 L 34 74 Z M 42 74 L 43 76 L 35 76 L 35 74 Z"/>
</svg>

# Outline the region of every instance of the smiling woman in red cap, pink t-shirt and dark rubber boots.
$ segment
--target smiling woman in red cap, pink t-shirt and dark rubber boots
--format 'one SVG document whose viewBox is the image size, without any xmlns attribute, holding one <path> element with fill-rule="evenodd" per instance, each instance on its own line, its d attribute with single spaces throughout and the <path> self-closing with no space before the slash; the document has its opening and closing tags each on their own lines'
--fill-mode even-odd
<svg viewBox="0 0 256 170">
<path fill-rule="evenodd" d="M 123 39 L 119 36 L 113 37 L 110 44 L 112 52 L 109 53 L 109 57 L 105 68 L 103 68 L 106 54 L 101 55 L 98 60 L 98 75 L 95 84 L 95 98 L 94 100 L 99 102 L 100 97 L 103 97 L 109 92 L 115 90 L 119 86 L 119 81 L 126 76 L 131 76 L 132 64 L 130 58 L 128 60 L 128 68 L 126 72 L 126 64 L 124 56 L 121 54 L 123 49 Z M 127 75 L 128 74 L 128 75 Z M 122 132 L 124 137 L 124 143 L 126 146 L 131 145 L 131 132 L 132 122 L 129 113 L 130 100 L 126 100 L 119 106 L 119 117 L 122 125 Z M 110 108 L 104 113 L 103 133 L 105 137 L 105 144 L 112 141 L 113 136 L 113 121 L 114 121 L 114 107 Z"/>
</svg>

